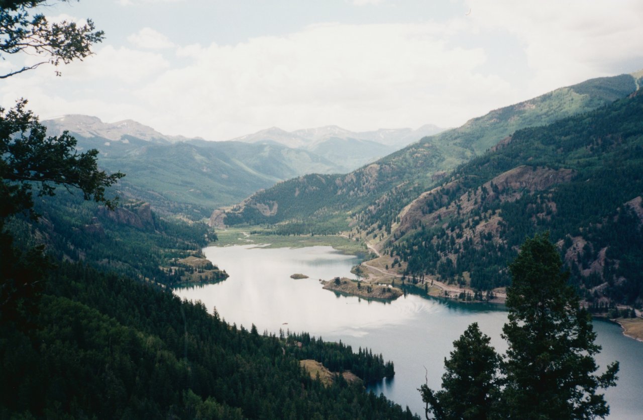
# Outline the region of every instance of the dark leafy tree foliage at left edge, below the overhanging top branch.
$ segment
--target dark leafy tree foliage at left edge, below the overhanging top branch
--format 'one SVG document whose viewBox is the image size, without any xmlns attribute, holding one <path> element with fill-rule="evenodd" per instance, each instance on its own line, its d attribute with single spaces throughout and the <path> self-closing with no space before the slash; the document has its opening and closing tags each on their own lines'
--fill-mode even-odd
<svg viewBox="0 0 643 420">
<path fill-rule="evenodd" d="M 37 246 L 23 251 L 14 246 L 14 238 L 5 231 L 6 219 L 21 212 L 33 211 L 33 185 L 39 195 L 53 196 L 58 185 L 78 188 L 85 199 L 93 197 L 109 208 L 116 199 L 105 197 L 105 188 L 124 175 L 98 170 L 95 149 L 84 153 L 75 150 L 76 140 L 64 132 L 46 136 L 46 128 L 20 100 L 12 109 L 0 107 L 0 321 L 23 318 L 24 311 L 37 306 L 46 269 L 51 264 Z"/>
</svg>

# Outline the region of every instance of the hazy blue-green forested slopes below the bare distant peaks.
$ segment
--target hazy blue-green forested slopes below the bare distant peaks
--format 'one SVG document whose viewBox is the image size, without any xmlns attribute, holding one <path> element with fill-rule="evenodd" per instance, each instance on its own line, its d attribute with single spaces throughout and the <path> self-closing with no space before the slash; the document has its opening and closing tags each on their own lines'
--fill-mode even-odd
<svg viewBox="0 0 643 420">
<path fill-rule="evenodd" d="M 199 219 L 212 208 L 235 203 L 283 179 L 338 169 L 320 156 L 280 145 L 192 141 L 143 145 L 124 154 L 93 147 L 101 151 L 102 167 L 128 174 L 123 186 L 136 196 L 159 209 Z"/>
</svg>

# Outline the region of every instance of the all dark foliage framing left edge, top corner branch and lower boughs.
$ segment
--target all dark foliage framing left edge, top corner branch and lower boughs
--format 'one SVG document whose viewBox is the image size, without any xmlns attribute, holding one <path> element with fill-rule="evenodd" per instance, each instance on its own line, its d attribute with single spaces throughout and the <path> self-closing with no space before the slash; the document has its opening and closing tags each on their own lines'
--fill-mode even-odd
<svg viewBox="0 0 643 420">
<path fill-rule="evenodd" d="M 68 0 L 60 0 L 68 1 Z M 94 31 L 94 24 L 79 26 L 75 22 L 50 23 L 41 13 L 33 13 L 45 0 L 0 0 L 0 59 L 25 54 L 37 57 L 35 64 L 10 71 L 8 78 L 37 68 L 46 62 L 58 66 L 91 55 L 91 46 L 102 41 L 103 32 Z M 14 237 L 7 232 L 6 219 L 21 212 L 32 217 L 33 185 L 39 195 L 53 196 L 57 186 L 68 190 L 79 188 L 85 199 L 95 199 L 113 208 L 116 199 L 105 197 L 105 188 L 123 174 L 107 174 L 98 170 L 98 151 L 75 150 L 76 140 L 64 132 L 47 136 L 46 127 L 37 116 L 25 109 L 21 99 L 11 108 L 0 107 L 0 323 L 25 322 L 37 309 L 44 273 L 51 268 L 42 254 L 44 246 L 26 252 L 14 246 Z"/>
</svg>

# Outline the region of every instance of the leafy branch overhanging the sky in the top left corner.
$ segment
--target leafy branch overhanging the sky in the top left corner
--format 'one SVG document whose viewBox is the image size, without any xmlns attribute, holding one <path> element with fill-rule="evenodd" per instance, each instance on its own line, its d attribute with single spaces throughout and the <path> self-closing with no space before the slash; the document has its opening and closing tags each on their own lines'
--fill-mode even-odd
<svg viewBox="0 0 643 420">
<path fill-rule="evenodd" d="M 59 0 L 67 2 L 69 0 Z M 24 64 L 0 75 L 8 78 L 23 71 L 50 63 L 59 66 L 73 60 L 82 60 L 92 54 L 91 46 L 101 42 L 104 32 L 96 31 L 94 23 L 78 24 L 73 21 L 50 22 L 41 13 L 33 13 L 47 0 L 0 0 L 0 59 L 25 53 L 37 57 L 33 64 Z M 59 72 L 57 72 L 60 75 Z"/>
</svg>

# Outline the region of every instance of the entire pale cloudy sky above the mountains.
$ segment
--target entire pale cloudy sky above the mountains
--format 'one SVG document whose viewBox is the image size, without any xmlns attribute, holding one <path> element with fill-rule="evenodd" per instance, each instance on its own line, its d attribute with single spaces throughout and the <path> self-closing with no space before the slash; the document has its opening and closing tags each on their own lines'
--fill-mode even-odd
<svg viewBox="0 0 643 420">
<path fill-rule="evenodd" d="M 95 55 L 0 80 L 41 120 L 136 120 L 230 140 L 268 127 L 457 127 L 588 78 L 643 69 L 640 0 L 80 0 Z M 30 56 L 0 61 L 16 69 Z"/>
</svg>

